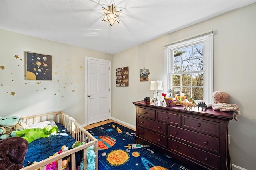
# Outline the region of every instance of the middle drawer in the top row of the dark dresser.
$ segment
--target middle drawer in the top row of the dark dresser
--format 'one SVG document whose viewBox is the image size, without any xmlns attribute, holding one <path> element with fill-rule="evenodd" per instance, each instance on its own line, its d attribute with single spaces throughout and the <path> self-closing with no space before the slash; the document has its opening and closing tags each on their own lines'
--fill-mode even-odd
<svg viewBox="0 0 256 170">
<path fill-rule="evenodd" d="M 173 125 L 181 125 L 181 116 L 173 113 L 166 113 L 162 111 L 156 111 L 156 120 L 164 121 Z"/>
</svg>

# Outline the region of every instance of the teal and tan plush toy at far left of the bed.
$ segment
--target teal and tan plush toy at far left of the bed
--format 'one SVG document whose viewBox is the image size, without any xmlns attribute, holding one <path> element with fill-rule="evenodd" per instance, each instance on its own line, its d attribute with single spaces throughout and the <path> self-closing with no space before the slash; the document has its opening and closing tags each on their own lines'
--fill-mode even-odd
<svg viewBox="0 0 256 170">
<path fill-rule="evenodd" d="M 23 130 L 22 122 L 26 121 L 17 116 L 0 117 L 0 139 L 15 137 L 14 131 Z"/>
</svg>

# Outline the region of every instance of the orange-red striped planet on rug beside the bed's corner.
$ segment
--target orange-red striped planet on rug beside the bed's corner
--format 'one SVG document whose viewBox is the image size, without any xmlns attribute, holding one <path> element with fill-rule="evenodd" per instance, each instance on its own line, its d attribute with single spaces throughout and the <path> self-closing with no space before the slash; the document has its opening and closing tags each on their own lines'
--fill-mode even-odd
<svg viewBox="0 0 256 170">
<path fill-rule="evenodd" d="M 116 144 L 116 139 L 112 136 L 98 136 L 98 150 L 108 149 Z"/>
</svg>

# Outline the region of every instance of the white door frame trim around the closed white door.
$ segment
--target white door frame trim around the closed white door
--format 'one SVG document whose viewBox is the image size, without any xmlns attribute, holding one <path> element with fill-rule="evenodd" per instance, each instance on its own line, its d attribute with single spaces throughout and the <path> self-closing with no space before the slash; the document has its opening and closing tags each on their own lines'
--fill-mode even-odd
<svg viewBox="0 0 256 170">
<path fill-rule="evenodd" d="M 87 68 L 87 63 L 88 63 L 88 59 L 91 60 L 97 60 L 97 61 L 104 61 L 104 62 L 108 62 L 109 63 L 109 117 L 108 119 L 111 119 L 111 61 L 110 60 L 104 60 L 104 59 L 98 59 L 98 58 L 94 58 L 94 57 L 87 57 L 85 56 L 85 66 L 86 69 L 85 70 L 85 126 L 88 125 L 88 107 L 87 107 L 87 96 L 88 96 L 88 91 L 87 91 L 87 87 L 88 87 L 88 80 L 87 80 L 87 73 L 88 73 L 88 68 Z"/>
</svg>

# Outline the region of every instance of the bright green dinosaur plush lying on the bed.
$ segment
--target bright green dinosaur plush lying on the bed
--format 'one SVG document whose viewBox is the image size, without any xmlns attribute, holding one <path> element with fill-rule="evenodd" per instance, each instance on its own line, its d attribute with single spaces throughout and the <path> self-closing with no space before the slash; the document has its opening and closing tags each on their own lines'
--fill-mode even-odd
<svg viewBox="0 0 256 170">
<path fill-rule="evenodd" d="M 31 128 L 31 129 L 25 129 L 23 131 L 16 131 L 16 136 L 23 137 L 28 141 L 28 143 L 31 143 L 32 141 L 40 138 L 46 138 L 49 137 L 51 134 L 56 134 L 59 131 L 57 126 L 51 126 L 48 125 L 46 127 L 42 128 Z"/>
</svg>

